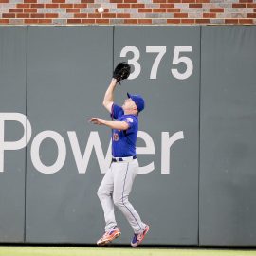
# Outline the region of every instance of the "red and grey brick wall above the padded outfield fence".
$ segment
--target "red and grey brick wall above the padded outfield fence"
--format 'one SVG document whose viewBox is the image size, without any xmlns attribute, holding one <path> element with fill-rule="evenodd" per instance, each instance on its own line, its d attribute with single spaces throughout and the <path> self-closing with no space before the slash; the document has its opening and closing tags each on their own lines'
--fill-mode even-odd
<svg viewBox="0 0 256 256">
<path fill-rule="evenodd" d="M 1 25 L 251 25 L 256 0 L 0 0 L 0 15 Z"/>
</svg>

